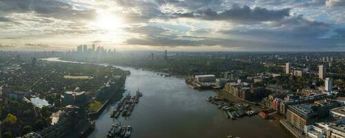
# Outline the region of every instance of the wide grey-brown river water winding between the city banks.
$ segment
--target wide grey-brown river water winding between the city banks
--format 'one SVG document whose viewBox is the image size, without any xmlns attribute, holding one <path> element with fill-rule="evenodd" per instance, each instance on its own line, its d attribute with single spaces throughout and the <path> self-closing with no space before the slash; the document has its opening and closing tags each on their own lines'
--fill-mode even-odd
<svg viewBox="0 0 345 138">
<path fill-rule="evenodd" d="M 46 59 L 59 61 L 56 58 Z M 112 119 L 116 108 L 112 103 L 95 120 L 96 128 L 89 137 L 106 137 L 111 126 L 121 122 L 133 128 L 132 137 L 291 137 L 276 121 L 261 119 L 259 116 L 226 119 L 222 112 L 205 98 L 214 95 L 212 90 L 198 91 L 189 88 L 184 79 L 161 77 L 155 72 L 130 70 L 125 89 L 135 94 L 139 88 L 144 96 L 139 99 L 128 118 Z M 126 95 L 126 93 L 124 95 Z"/>
</svg>

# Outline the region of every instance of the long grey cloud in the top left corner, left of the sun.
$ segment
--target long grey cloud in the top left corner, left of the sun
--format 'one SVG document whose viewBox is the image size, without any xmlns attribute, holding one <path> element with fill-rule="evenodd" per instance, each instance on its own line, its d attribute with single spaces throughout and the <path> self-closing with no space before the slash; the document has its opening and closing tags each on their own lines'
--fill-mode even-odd
<svg viewBox="0 0 345 138">
<path fill-rule="evenodd" d="M 95 10 L 76 10 L 69 3 L 57 0 L 2 0 L 0 12 L 34 12 L 41 17 L 72 21 L 95 19 Z"/>
</svg>

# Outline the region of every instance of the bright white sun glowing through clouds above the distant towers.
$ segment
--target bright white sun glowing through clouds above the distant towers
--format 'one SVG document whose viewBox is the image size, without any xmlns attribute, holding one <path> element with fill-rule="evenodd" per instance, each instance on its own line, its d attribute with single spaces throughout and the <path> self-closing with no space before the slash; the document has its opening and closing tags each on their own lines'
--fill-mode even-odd
<svg viewBox="0 0 345 138">
<path fill-rule="evenodd" d="M 119 30 L 123 25 L 121 17 L 106 10 L 97 10 L 95 26 L 102 30 Z"/>
</svg>

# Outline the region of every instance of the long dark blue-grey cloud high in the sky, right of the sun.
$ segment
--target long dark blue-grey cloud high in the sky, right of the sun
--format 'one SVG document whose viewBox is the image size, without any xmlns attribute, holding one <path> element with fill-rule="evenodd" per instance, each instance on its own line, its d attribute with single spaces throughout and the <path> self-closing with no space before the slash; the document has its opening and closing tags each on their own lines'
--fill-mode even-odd
<svg viewBox="0 0 345 138">
<path fill-rule="evenodd" d="M 248 6 L 233 6 L 228 10 L 216 12 L 211 9 L 196 12 L 175 13 L 177 17 L 198 18 L 205 20 L 231 20 L 231 21 L 276 21 L 290 16 L 290 9 L 268 10 L 266 8 L 250 8 Z"/>
</svg>

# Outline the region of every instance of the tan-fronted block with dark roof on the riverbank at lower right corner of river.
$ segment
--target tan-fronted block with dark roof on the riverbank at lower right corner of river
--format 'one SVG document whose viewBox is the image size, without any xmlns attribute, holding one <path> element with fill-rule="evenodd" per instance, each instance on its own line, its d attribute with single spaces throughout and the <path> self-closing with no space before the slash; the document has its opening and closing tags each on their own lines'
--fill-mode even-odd
<svg viewBox="0 0 345 138">
<path fill-rule="evenodd" d="M 309 104 L 288 106 L 286 119 L 291 126 L 304 132 L 304 127 L 313 124 L 317 119 L 317 112 L 314 110 L 314 107 Z"/>
</svg>

